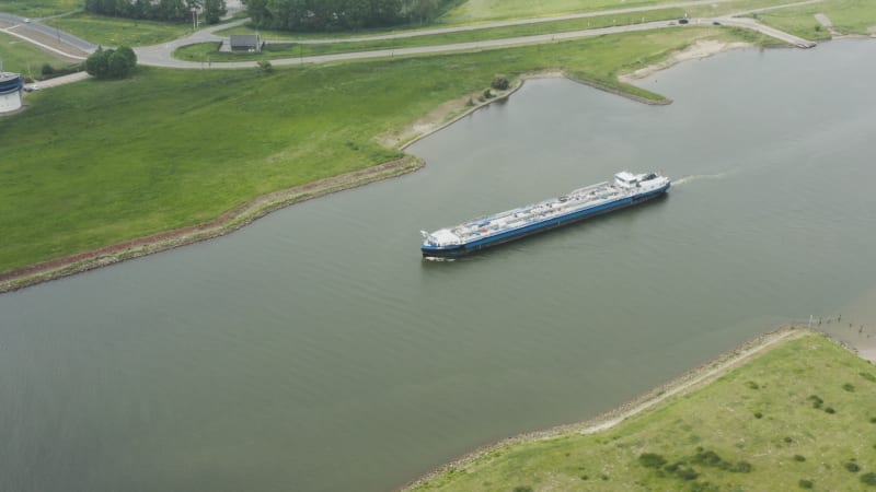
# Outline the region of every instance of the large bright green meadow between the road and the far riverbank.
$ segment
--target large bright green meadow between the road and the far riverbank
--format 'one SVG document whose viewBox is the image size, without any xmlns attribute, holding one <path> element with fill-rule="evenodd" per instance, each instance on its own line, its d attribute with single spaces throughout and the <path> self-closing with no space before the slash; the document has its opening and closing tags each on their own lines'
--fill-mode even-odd
<svg viewBox="0 0 876 492">
<path fill-rule="evenodd" d="M 698 37 L 677 30 L 502 51 L 278 70 L 141 69 L 33 93 L 0 119 L 0 272 L 207 222 L 254 197 L 401 155 L 374 137 L 480 93 L 496 73 L 561 68 L 607 85 Z M 654 96 L 654 95 L 650 95 Z"/>
</svg>

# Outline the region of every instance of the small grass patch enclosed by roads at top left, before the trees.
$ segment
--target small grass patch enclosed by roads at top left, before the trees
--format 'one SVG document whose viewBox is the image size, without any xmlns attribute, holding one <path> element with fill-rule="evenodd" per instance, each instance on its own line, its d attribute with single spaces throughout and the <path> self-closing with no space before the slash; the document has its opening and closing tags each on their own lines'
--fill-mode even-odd
<svg viewBox="0 0 876 492">
<path fill-rule="evenodd" d="M 45 22 L 101 46 L 148 46 L 176 39 L 192 32 L 191 24 L 77 13 Z"/>
</svg>

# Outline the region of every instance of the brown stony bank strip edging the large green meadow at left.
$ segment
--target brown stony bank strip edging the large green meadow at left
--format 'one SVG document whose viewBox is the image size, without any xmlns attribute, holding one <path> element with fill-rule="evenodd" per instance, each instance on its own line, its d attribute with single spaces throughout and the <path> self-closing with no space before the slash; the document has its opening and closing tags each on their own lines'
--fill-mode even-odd
<svg viewBox="0 0 876 492">
<path fill-rule="evenodd" d="M 210 222 L 180 227 L 12 270 L 0 274 L 0 294 L 223 236 L 288 206 L 357 188 L 370 183 L 399 177 L 417 171 L 424 165 L 425 163 L 420 159 L 414 155 L 405 155 L 395 161 L 256 197 L 222 213 Z"/>
</svg>

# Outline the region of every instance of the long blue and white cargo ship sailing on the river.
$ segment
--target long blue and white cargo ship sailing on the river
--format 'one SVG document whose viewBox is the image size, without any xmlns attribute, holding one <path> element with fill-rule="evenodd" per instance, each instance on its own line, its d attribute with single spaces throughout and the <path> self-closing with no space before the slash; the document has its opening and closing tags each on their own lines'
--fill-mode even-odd
<svg viewBox="0 0 876 492">
<path fill-rule="evenodd" d="M 567 195 L 551 198 L 507 212 L 495 213 L 433 233 L 420 231 L 425 258 L 453 258 L 507 243 L 593 215 L 641 203 L 665 194 L 669 178 L 656 173 L 614 175 L 603 181 Z"/>
</svg>

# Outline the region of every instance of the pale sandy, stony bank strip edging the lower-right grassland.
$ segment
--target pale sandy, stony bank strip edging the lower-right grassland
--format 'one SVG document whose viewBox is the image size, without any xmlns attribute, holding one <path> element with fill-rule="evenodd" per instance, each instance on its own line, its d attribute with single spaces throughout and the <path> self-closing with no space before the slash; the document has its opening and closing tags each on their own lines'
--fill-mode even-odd
<svg viewBox="0 0 876 492">
<path fill-rule="evenodd" d="M 670 401 L 672 398 L 683 397 L 691 391 L 707 386 L 712 382 L 727 374 L 729 371 L 781 347 L 782 343 L 810 336 L 825 337 L 837 343 L 839 347 L 848 350 L 850 353 L 860 356 L 853 348 L 832 339 L 821 331 L 795 325 L 783 326 L 773 331 L 753 337 L 742 342 L 735 349 L 723 352 L 712 360 L 701 364 L 700 366 L 694 367 L 676 377 L 675 379 L 657 386 L 656 388 L 625 403 L 622 403 L 614 409 L 609 410 L 608 412 L 580 422 L 557 425 L 543 431 L 522 433 L 492 444 L 487 444 L 451 461 L 448 461 L 411 482 L 405 483 L 401 488 L 396 489 L 396 491 L 408 492 L 416 490 L 417 488 L 425 485 L 429 481 L 435 480 L 443 473 L 469 466 L 477 459 L 507 446 L 554 440 L 573 434 L 593 434 L 610 430 L 631 418 L 637 417 L 641 413 L 657 407 L 660 403 Z"/>
</svg>

